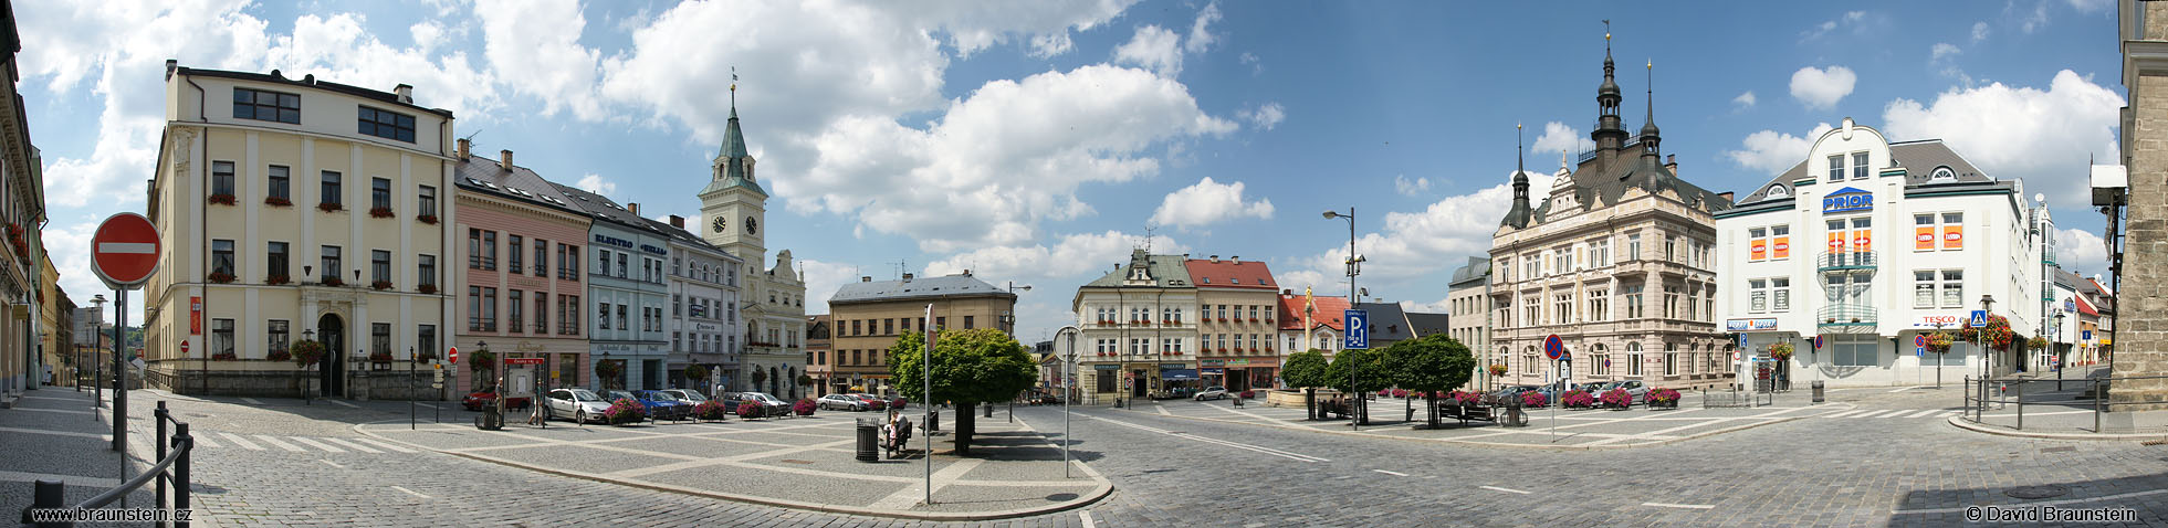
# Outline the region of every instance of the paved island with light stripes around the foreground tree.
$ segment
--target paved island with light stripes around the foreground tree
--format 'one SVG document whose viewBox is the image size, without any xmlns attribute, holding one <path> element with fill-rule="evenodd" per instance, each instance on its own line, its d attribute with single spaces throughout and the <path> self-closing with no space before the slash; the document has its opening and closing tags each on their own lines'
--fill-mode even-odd
<svg viewBox="0 0 2168 528">
<path fill-rule="evenodd" d="M 549 428 L 507 424 L 477 431 L 470 424 L 358 424 L 362 435 L 444 454 L 503 463 L 546 474 L 757 502 L 787 509 L 880 515 L 902 519 L 1006 519 L 1097 502 L 1112 483 L 1082 461 L 1062 476 L 1060 446 L 1025 422 L 978 418 L 971 457 L 952 454 L 952 435 L 932 437 L 934 504 L 926 496 L 926 459 L 861 463 L 854 459 L 856 418 L 880 413 L 820 413 L 787 420 L 659 422 L 646 426 Z M 917 418 L 917 415 L 913 415 Z M 945 411 L 943 431 L 956 415 Z M 915 435 L 913 448 L 926 437 Z"/>
</svg>

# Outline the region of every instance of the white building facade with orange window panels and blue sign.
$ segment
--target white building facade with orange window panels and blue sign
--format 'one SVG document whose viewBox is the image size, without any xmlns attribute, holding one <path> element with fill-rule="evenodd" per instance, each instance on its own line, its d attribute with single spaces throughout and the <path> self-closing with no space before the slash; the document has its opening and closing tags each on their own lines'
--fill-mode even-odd
<svg viewBox="0 0 2168 528">
<path fill-rule="evenodd" d="M 2018 180 L 1997 180 L 1943 141 L 1890 143 L 1845 119 L 1806 160 L 1717 212 L 1717 309 L 1741 335 L 1741 379 L 1828 385 L 1914 385 L 1982 374 L 1979 346 L 1921 353 L 1938 327 L 1956 333 L 1982 296 L 2018 344 L 1986 357 L 1995 374 L 2025 368 L 2040 333 L 2044 208 Z M 1821 346 L 1815 346 L 1821 338 Z M 1767 361 L 1791 342 L 1791 361 Z M 1763 359 L 1763 361 L 1756 361 Z"/>
</svg>

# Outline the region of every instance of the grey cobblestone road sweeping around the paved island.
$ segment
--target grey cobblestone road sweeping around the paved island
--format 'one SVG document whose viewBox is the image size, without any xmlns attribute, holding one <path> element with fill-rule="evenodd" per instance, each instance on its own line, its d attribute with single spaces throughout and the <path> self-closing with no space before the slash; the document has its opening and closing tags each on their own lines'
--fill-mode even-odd
<svg viewBox="0 0 2168 528">
<path fill-rule="evenodd" d="M 147 409 L 143 400 L 134 407 Z M 1958 396 L 1854 390 L 1832 400 L 1925 411 L 1956 407 Z M 351 424 L 395 418 L 384 402 L 338 411 L 173 405 L 210 415 L 195 418 L 206 428 L 273 413 L 299 422 L 293 435 L 345 439 L 358 437 Z M 347 420 L 347 433 L 308 428 L 334 418 Z M 1047 435 L 1062 431 L 1060 407 L 1019 407 L 1017 418 Z M 1791 420 L 1633 450 L 1370 439 L 1104 407 L 1077 407 L 1069 426 L 1073 454 L 1114 483 L 1112 496 L 1082 511 L 943 526 L 1953 526 L 1969 506 L 2023 504 L 2131 509 L 2125 526 L 2168 526 L 2168 446 L 1992 437 L 1930 418 Z M 228 526 L 926 526 L 436 452 L 212 448 L 197 474 L 197 504 Z"/>
</svg>

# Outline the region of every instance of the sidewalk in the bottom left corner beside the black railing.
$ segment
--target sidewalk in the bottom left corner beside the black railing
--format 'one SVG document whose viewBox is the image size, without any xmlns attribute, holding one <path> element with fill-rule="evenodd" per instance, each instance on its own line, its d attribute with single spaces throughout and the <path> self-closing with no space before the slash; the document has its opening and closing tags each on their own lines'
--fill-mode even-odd
<svg viewBox="0 0 2168 528">
<path fill-rule="evenodd" d="M 141 392 L 132 394 L 141 396 Z M 106 394 L 111 400 L 111 394 Z M 130 405 L 156 405 L 154 400 L 130 398 Z M 91 409 L 91 392 L 69 387 L 39 387 L 24 392 L 15 407 L 0 409 L 0 524 L 15 524 L 30 506 L 33 480 L 59 480 L 67 485 L 65 504 L 91 500 L 121 483 L 121 454 L 113 452 L 113 411 Z M 132 428 L 132 426 L 130 426 Z M 126 463 L 128 474 L 150 467 L 150 441 L 145 433 L 130 431 Z M 147 509 L 156 496 L 152 487 L 128 493 L 128 506 Z M 106 509 L 119 509 L 119 502 Z"/>
</svg>

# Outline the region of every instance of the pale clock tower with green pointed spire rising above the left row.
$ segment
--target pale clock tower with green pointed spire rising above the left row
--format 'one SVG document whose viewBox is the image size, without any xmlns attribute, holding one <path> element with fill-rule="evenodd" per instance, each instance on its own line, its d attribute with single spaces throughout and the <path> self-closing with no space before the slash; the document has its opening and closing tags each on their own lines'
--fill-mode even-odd
<svg viewBox="0 0 2168 528">
<path fill-rule="evenodd" d="M 709 167 L 713 173 L 700 190 L 700 238 L 718 245 L 731 255 L 752 266 L 765 266 L 767 247 L 761 229 L 767 229 L 767 190 L 752 177 L 752 154 L 746 154 L 746 136 L 737 130 L 737 108 L 731 108 L 731 123 L 722 132 L 722 154 Z"/>
</svg>

